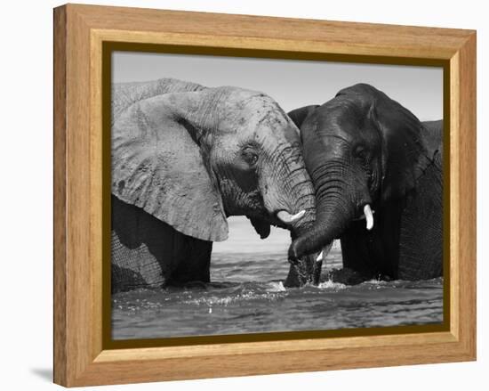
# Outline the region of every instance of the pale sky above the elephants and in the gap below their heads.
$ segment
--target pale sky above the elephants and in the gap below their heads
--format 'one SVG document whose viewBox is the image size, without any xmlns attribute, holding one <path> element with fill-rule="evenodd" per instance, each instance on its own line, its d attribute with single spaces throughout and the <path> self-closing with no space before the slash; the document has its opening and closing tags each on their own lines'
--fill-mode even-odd
<svg viewBox="0 0 489 391">
<path fill-rule="evenodd" d="M 204 86 L 239 86 L 269 94 L 285 111 L 322 104 L 341 88 L 368 83 L 421 121 L 443 115 L 441 68 L 133 52 L 114 53 L 112 67 L 115 83 L 175 77 Z M 228 224 L 229 239 L 214 243 L 213 251 L 285 252 L 290 244 L 289 232 L 281 229 L 260 240 L 245 217 L 231 217 Z"/>
</svg>

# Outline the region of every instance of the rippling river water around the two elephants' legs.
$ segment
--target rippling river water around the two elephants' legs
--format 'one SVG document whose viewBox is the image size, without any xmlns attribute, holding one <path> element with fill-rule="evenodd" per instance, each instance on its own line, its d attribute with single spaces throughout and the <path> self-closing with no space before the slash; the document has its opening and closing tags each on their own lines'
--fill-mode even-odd
<svg viewBox="0 0 489 391">
<path fill-rule="evenodd" d="M 288 239 L 287 239 L 288 240 Z M 266 240 L 263 240 L 266 241 Z M 290 243 L 290 240 L 288 240 Z M 114 339 L 439 323 L 443 279 L 366 281 L 285 289 L 286 245 L 212 253 L 210 284 L 140 289 L 112 297 Z M 267 250 L 269 248 L 269 250 Z M 341 267 L 333 246 L 323 273 Z"/>
</svg>

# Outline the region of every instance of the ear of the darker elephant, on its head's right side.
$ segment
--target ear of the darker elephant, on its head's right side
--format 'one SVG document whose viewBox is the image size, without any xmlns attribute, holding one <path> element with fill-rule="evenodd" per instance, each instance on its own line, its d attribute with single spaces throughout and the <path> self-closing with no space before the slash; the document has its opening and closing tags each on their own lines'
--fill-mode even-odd
<svg viewBox="0 0 489 391">
<path fill-rule="evenodd" d="M 357 94 L 382 139 L 382 198 L 404 197 L 429 164 L 424 127 L 414 114 L 373 86 L 360 84 L 339 94 Z"/>
</svg>

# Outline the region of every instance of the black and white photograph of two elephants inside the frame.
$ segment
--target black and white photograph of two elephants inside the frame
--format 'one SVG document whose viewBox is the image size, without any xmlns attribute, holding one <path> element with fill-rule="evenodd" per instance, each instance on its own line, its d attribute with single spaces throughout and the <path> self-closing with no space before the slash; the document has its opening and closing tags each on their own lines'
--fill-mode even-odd
<svg viewBox="0 0 489 391">
<path fill-rule="evenodd" d="M 111 63 L 114 340 L 444 321 L 442 68 Z"/>
</svg>

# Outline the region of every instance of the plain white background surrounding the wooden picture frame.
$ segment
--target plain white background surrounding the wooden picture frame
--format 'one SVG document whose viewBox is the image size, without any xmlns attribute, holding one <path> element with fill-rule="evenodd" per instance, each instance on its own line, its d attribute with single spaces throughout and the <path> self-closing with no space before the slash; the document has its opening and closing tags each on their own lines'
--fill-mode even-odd
<svg viewBox="0 0 489 391">
<path fill-rule="evenodd" d="M 87 2 L 92 3 L 92 2 Z M 48 389 L 52 371 L 52 7 L 55 1 L 2 4 L 0 61 L 0 387 Z M 487 99 L 487 11 L 482 1 L 426 0 L 319 2 L 247 1 L 99 1 L 206 12 L 228 12 L 477 29 L 478 94 L 477 199 L 478 361 L 330 371 L 293 375 L 209 379 L 103 389 L 213 390 L 250 388 L 461 390 L 486 389 L 489 370 L 487 279 L 489 229 L 484 183 L 489 167 Z M 429 349 L 429 346 L 427 346 Z M 375 354 L 375 352 L 373 352 Z"/>
</svg>

